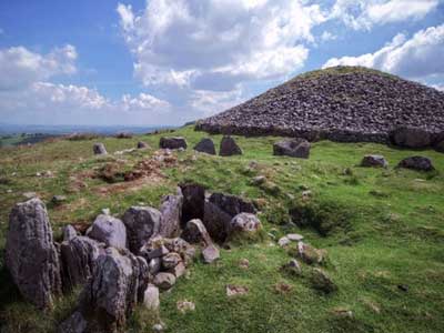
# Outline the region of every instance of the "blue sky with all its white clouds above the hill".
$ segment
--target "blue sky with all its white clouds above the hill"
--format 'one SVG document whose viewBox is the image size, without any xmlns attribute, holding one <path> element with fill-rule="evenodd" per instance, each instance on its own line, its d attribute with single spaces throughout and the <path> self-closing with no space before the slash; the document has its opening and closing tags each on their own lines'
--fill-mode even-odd
<svg viewBox="0 0 444 333">
<path fill-rule="evenodd" d="M 0 123 L 179 125 L 340 64 L 444 90 L 444 0 L 0 1 Z"/>
</svg>

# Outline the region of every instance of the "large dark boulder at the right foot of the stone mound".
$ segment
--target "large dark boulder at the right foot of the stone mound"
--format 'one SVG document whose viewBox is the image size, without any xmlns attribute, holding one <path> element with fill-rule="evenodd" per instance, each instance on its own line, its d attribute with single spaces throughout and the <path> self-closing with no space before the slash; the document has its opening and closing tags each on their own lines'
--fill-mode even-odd
<svg viewBox="0 0 444 333">
<path fill-rule="evenodd" d="M 426 148 L 432 144 L 432 134 L 423 129 L 401 127 L 392 130 L 390 141 L 398 147 Z"/>
</svg>

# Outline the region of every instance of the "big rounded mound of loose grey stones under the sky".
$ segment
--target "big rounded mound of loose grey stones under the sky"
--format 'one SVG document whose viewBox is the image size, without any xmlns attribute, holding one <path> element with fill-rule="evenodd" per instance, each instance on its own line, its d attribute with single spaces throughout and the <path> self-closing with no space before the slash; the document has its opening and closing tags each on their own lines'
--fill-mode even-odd
<svg viewBox="0 0 444 333">
<path fill-rule="evenodd" d="M 398 127 L 443 132 L 444 92 L 356 67 L 299 75 L 196 123 L 210 133 L 381 143 Z"/>
</svg>

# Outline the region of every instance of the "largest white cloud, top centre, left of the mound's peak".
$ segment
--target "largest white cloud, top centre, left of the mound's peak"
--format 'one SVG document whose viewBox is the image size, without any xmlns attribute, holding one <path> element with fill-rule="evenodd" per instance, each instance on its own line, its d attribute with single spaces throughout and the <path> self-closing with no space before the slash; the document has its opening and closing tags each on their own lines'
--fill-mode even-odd
<svg viewBox="0 0 444 333">
<path fill-rule="evenodd" d="M 325 20 L 317 4 L 305 3 L 152 0 L 140 16 L 124 4 L 118 12 L 143 84 L 229 91 L 303 65 L 309 53 L 303 43 L 313 41 L 311 29 Z"/>
</svg>

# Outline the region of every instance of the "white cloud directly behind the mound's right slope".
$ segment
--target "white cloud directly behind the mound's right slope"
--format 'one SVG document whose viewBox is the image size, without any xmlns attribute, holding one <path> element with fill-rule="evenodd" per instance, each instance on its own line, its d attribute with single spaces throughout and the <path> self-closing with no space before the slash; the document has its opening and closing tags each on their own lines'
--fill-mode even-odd
<svg viewBox="0 0 444 333">
<path fill-rule="evenodd" d="M 364 65 L 421 79 L 444 74 L 444 24 L 420 30 L 411 39 L 397 34 L 392 42 L 374 53 L 330 59 L 323 68 Z"/>
</svg>

